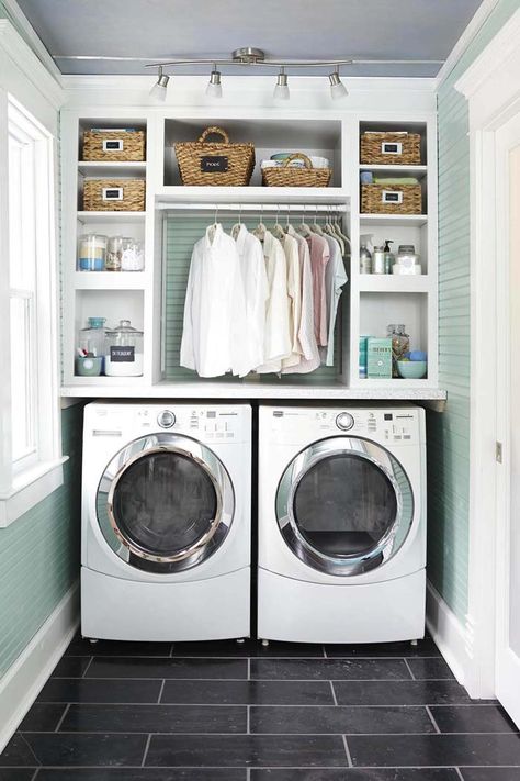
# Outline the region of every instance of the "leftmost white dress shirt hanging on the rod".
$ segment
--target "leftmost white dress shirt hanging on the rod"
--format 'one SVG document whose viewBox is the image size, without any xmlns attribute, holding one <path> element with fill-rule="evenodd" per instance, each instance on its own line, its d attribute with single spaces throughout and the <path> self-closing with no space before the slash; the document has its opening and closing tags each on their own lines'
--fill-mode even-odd
<svg viewBox="0 0 520 781">
<path fill-rule="evenodd" d="M 246 303 L 234 239 L 212 225 L 193 247 L 180 364 L 200 377 L 248 371 Z"/>
</svg>

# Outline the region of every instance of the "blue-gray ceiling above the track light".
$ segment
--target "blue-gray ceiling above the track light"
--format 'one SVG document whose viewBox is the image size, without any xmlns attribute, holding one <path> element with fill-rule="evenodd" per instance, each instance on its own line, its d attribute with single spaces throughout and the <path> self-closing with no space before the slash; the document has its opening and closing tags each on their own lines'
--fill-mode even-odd
<svg viewBox="0 0 520 781">
<path fill-rule="evenodd" d="M 63 55 L 227 58 L 239 46 L 258 46 L 268 57 L 284 59 L 444 60 L 479 4 L 481 0 L 19 0 L 63 74 L 146 72 L 140 62 L 75 60 Z M 436 76 L 440 67 L 358 64 L 342 72 L 418 77 Z"/>
</svg>

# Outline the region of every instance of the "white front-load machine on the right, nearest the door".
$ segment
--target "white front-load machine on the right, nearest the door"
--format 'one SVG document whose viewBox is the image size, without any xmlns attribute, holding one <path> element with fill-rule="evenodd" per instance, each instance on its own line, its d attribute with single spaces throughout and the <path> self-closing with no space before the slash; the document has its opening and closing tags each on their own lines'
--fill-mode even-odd
<svg viewBox="0 0 520 781">
<path fill-rule="evenodd" d="M 425 634 L 425 411 L 259 410 L 258 635 Z"/>
</svg>

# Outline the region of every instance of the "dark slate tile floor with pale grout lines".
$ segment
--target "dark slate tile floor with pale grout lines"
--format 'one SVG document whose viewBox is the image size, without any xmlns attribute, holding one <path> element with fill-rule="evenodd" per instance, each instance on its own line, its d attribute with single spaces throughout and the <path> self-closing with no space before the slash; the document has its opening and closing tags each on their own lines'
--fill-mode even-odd
<svg viewBox="0 0 520 781">
<path fill-rule="evenodd" d="M 77 637 L 0 781 L 520 781 L 520 735 L 431 638 L 369 646 Z"/>
</svg>

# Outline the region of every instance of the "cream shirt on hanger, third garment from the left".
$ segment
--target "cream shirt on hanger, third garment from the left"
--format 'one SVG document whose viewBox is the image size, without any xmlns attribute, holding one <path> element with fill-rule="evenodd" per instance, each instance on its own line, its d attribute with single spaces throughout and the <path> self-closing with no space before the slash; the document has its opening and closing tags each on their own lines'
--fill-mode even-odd
<svg viewBox="0 0 520 781">
<path fill-rule="evenodd" d="M 287 264 L 278 238 L 262 227 L 263 256 L 269 284 L 265 308 L 263 362 L 259 373 L 280 372 L 282 360 L 291 355 L 290 303 L 287 295 Z"/>
</svg>

